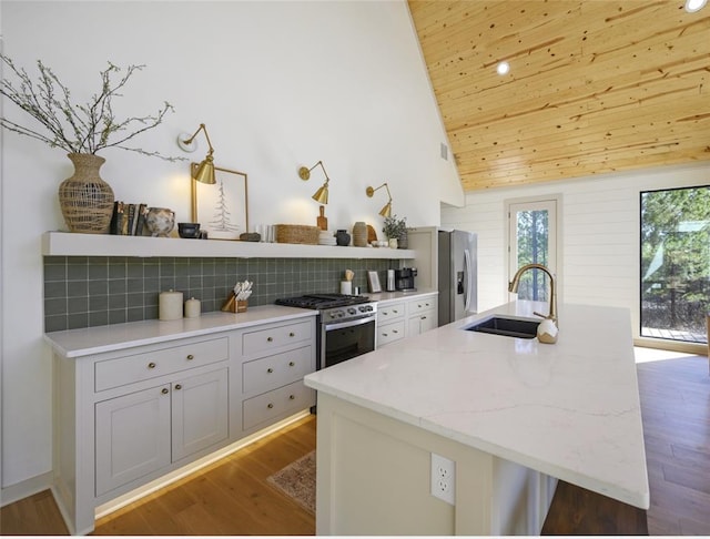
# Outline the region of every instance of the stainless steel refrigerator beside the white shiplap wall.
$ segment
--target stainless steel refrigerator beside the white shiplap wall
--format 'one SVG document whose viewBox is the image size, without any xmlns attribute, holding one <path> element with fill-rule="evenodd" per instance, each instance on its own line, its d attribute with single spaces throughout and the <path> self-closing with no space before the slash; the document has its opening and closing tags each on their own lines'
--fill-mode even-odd
<svg viewBox="0 0 710 539">
<path fill-rule="evenodd" d="M 439 326 L 476 313 L 476 234 L 438 231 Z"/>
</svg>

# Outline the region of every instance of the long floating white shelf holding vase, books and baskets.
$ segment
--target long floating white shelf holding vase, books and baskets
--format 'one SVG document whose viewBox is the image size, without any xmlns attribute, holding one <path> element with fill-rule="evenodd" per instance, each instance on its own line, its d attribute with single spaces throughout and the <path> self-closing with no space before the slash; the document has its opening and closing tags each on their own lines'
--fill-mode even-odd
<svg viewBox="0 0 710 539">
<path fill-rule="evenodd" d="M 414 258 L 406 248 L 339 247 L 291 243 L 183 240 L 45 232 L 43 256 L 184 256 L 223 258 Z"/>
</svg>

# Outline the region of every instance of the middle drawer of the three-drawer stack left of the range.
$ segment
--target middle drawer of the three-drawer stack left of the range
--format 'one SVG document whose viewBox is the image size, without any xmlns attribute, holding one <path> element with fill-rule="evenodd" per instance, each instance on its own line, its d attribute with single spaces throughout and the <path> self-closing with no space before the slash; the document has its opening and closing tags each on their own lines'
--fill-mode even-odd
<svg viewBox="0 0 710 539">
<path fill-rule="evenodd" d="M 315 368 L 314 355 L 308 345 L 245 363 L 242 365 L 243 391 L 254 395 L 303 379 Z"/>
</svg>

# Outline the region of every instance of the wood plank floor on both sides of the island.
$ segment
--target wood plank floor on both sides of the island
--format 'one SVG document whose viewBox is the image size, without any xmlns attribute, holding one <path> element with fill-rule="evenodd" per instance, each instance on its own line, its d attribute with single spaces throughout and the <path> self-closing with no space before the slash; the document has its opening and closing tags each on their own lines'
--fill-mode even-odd
<svg viewBox="0 0 710 539">
<path fill-rule="evenodd" d="M 708 358 L 640 363 L 637 372 L 651 489 L 648 531 L 709 536 Z M 314 535 L 313 515 L 266 477 L 315 447 L 315 423 L 314 416 L 303 419 L 100 519 L 95 535 Z M 3 507 L 0 532 L 65 535 L 67 529 L 45 491 Z"/>
</svg>

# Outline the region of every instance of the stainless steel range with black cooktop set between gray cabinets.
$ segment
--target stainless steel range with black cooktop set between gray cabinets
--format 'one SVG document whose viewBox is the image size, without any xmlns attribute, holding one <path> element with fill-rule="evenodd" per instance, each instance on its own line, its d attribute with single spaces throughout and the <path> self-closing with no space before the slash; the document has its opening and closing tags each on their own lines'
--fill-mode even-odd
<svg viewBox="0 0 710 539">
<path fill-rule="evenodd" d="M 307 294 L 276 299 L 275 303 L 318 311 L 318 369 L 375 349 L 377 304 L 367 296 Z"/>
</svg>

